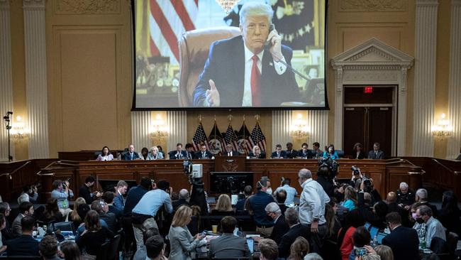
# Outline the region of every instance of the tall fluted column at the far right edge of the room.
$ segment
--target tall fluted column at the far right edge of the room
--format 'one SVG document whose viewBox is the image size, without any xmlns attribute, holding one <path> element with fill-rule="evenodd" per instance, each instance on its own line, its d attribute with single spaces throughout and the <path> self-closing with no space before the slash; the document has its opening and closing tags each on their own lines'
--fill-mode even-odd
<svg viewBox="0 0 461 260">
<path fill-rule="evenodd" d="M 453 127 L 453 136 L 448 141 L 447 158 L 456 158 L 461 146 L 461 0 L 451 1 L 449 70 L 448 119 Z"/>
</svg>

